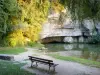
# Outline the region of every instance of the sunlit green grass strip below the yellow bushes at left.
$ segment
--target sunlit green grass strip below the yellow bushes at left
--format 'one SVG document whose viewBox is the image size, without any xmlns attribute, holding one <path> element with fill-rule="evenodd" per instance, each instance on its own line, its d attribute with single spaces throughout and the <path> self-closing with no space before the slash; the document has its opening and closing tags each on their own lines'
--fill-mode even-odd
<svg viewBox="0 0 100 75">
<path fill-rule="evenodd" d="M 24 47 L 1 47 L 0 54 L 19 54 L 25 52 Z"/>
</svg>

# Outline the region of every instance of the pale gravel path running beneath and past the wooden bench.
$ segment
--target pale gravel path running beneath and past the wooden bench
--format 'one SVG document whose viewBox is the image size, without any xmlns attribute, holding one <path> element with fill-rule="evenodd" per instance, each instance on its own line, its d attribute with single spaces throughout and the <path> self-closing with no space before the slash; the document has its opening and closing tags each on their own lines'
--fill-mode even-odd
<svg viewBox="0 0 100 75">
<path fill-rule="evenodd" d="M 32 52 L 31 48 L 27 48 L 29 51 L 24 54 L 20 54 L 19 57 L 16 57 L 20 61 L 24 58 L 26 58 L 28 55 L 30 55 Z M 34 52 L 33 52 L 34 53 Z M 36 54 L 36 52 L 34 53 Z M 39 64 L 38 69 L 37 68 L 30 68 L 30 61 L 27 61 L 27 65 L 23 66 L 22 69 L 25 69 L 31 73 L 36 73 L 36 75 L 100 75 L 100 68 L 95 68 L 95 67 L 89 67 L 85 66 L 79 63 L 75 62 L 70 62 L 70 61 L 63 61 L 63 60 L 58 60 L 51 58 L 49 56 L 39 54 L 39 57 L 41 58 L 46 58 L 46 59 L 51 59 L 54 61 L 54 63 L 59 64 L 56 67 L 56 73 L 50 73 L 48 72 L 48 66 Z"/>
</svg>

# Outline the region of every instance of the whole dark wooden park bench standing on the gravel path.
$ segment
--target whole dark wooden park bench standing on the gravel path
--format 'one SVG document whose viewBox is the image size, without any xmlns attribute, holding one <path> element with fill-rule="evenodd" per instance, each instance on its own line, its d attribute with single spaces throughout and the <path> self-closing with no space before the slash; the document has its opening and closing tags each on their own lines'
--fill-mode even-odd
<svg viewBox="0 0 100 75">
<path fill-rule="evenodd" d="M 48 59 L 43 59 L 43 58 L 38 58 L 38 57 L 33 57 L 33 56 L 28 56 L 29 60 L 31 61 L 31 67 L 33 67 L 33 63 L 36 63 L 36 67 L 38 66 L 38 63 L 45 64 L 49 66 L 49 71 L 50 67 L 53 67 L 53 71 L 55 71 L 55 67 L 58 64 L 54 64 L 53 60 L 48 60 Z"/>
</svg>

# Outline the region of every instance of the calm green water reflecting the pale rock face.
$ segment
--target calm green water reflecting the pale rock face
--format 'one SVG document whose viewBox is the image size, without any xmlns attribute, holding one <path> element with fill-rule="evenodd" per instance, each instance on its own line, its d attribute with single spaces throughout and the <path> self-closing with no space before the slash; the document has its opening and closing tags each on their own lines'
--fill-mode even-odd
<svg viewBox="0 0 100 75">
<path fill-rule="evenodd" d="M 93 44 L 45 44 L 48 52 L 59 52 L 63 56 L 74 56 L 100 62 L 100 45 Z"/>
</svg>

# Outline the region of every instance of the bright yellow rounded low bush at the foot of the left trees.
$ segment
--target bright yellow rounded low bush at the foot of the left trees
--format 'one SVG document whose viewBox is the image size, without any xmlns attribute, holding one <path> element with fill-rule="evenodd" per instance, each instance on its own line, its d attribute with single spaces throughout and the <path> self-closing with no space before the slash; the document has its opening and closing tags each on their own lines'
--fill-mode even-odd
<svg viewBox="0 0 100 75">
<path fill-rule="evenodd" d="M 10 46 L 18 46 L 18 45 L 25 45 L 25 38 L 23 36 L 22 30 L 15 30 L 12 33 L 9 34 L 8 38 L 8 43 Z"/>
</svg>

